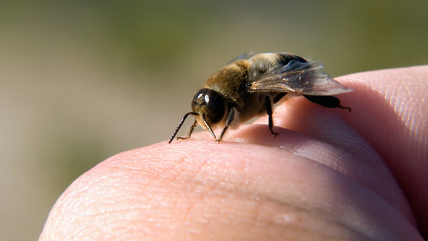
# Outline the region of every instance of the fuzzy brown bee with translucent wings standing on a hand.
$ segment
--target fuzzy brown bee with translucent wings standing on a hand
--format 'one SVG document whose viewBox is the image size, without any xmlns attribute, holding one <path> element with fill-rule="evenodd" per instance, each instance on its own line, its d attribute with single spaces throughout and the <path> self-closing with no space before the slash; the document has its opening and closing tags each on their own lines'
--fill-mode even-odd
<svg viewBox="0 0 428 241">
<path fill-rule="evenodd" d="M 304 96 L 324 107 L 351 111 L 333 96 L 351 91 L 325 73 L 321 61 L 309 61 L 290 53 L 248 52 L 208 77 L 193 96 L 191 111 L 181 119 L 168 143 L 189 115 L 195 118 L 193 124 L 187 136 L 177 139 L 190 138 L 199 124 L 220 142 L 229 128 L 265 114 L 269 117 L 269 131 L 276 137 L 279 133 L 273 131 L 272 105 L 279 100 Z M 214 127 L 223 128 L 218 139 Z"/>
</svg>

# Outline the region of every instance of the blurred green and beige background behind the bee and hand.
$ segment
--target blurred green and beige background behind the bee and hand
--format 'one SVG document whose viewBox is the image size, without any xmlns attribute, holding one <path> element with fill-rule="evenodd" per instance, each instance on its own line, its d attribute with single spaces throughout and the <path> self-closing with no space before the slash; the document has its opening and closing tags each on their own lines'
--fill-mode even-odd
<svg viewBox="0 0 428 241">
<path fill-rule="evenodd" d="M 58 196 L 169 139 L 205 78 L 288 51 L 330 75 L 428 63 L 428 1 L 2 1 L 0 240 L 35 240 Z"/>
</svg>

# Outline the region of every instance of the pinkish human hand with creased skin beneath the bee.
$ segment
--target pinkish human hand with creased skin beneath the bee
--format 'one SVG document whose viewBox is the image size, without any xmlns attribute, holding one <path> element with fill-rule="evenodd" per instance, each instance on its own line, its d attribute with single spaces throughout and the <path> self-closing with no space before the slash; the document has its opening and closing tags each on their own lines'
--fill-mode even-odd
<svg viewBox="0 0 428 241">
<path fill-rule="evenodd" d="M 267 117 L 110 157 L 71 184 L 39 240 L 423 240 L 428 66 L 336 78 L 342 109 Z"/>
</svg>

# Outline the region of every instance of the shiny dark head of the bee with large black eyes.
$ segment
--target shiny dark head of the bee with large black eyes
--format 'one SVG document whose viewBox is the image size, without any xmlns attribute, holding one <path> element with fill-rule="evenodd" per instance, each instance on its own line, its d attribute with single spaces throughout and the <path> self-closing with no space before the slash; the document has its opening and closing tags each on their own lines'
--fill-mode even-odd
<svg viewBox="0 0 428 241">
<path fill-rule="evenodd" d="M 205 116 L 205 120 L 208 124 L 216 124 L 220 122 L 224 116 L 224 99 L 217 91 L 205 88 L 200 89 L 195 93 L 195 96 L 193 96 L 192 111 L 199 113 L 199 117 L 204 118 Z M 198 122 L 202 125 L 199 120 Z"/>
</svg>

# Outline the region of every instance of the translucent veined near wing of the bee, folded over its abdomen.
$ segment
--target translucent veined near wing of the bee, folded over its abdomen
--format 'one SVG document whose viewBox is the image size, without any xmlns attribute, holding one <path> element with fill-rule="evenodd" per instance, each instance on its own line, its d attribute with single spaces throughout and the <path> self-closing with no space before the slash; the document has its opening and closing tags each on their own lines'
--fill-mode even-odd
<svg viewBox="0 0 428 241">
<path fill-rule="evenodd" d="M 313 96 L 330 96 L 353 91 L 323 71 L 321 61 L 291 60 L 285 66 L 273 66 L 250 81 L 249 92 L 293 92 Z"/>
</svg>

